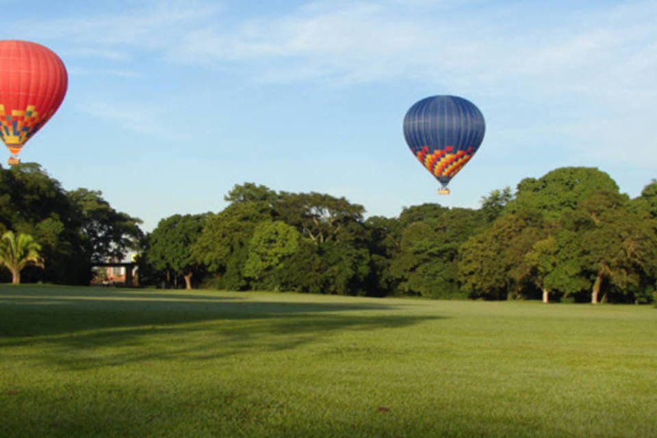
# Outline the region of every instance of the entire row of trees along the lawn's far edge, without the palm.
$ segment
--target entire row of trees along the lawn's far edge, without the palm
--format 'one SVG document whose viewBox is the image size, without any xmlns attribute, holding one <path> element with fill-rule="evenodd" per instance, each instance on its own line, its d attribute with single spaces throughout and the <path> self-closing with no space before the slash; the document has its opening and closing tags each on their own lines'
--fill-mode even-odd
<svg viewBox="0 0 657 438">
<path fill-rule="evenodd" d="M 27 281 L 88 284 L 90 266 L 139 253 L 161 287 L 361 296 L 651 302 L 657 182 L 630 198 L 605 172 L 558 168 L 480 208 L 424 204 L 396 218 L 321 193 L 235 185 L 227 207 L 175 214 L 144 235 L 101 192 L 66 191 L 36 164 L 0 168 L 0 234 L 34 237 Z M 0 271 L 5 281 L 11 277 Z"/>
</svg>

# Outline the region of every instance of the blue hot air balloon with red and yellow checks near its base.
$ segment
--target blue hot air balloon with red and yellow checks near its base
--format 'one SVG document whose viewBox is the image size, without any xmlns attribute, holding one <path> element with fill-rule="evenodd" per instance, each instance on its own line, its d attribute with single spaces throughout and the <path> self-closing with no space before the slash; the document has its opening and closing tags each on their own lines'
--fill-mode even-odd
<svg viewBox="0 0 657 438">
<path fill-rule="evenodd" d="M 484 139 L 486 123 L 474 103 L 458 96 L 430 96 L 404 117 L 404 138 L 420 163 L 449 194 L 447 185 Z"/>
</svg>

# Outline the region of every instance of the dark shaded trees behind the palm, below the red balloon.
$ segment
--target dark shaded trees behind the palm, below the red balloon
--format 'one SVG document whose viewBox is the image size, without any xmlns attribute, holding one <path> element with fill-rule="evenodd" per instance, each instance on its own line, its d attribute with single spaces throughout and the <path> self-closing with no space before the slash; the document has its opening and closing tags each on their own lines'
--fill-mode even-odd
<svg viewBox="0 0 657 438">
<path fill-rule="evenodd" d="M 26 269 L 24 281 L 88 284 L 93 261 L 138 246 L 140 222 L 100 192 L 66 192 L 38 164 L 0 167 L 0 229 L 32 235 L 42 246 L 44 270 Z"/>
</svg>

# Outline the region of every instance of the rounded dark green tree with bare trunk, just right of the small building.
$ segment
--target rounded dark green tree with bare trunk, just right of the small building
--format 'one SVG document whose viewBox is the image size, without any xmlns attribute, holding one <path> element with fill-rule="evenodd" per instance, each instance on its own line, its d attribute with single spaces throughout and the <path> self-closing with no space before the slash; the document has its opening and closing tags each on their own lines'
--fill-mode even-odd
<svg viewBox="0 0 657 438">
<path fill-rule="evenodd" d="M 148 237 L 146 262 L 155 270 L 183 276 L 188 290 L 192 289 L 192 275 L 201 270 L 192 246 L 201 235 L 205 218 L 204 214 L 175 214 L 160 220 Z"/>
</svg>

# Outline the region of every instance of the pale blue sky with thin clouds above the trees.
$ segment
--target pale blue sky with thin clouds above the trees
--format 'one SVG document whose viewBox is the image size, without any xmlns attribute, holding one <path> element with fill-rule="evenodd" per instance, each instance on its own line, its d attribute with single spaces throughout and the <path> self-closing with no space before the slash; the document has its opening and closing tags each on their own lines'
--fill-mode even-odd
<svg viewBox="0 0 657 438">
<path fill-rule="evenodd" d="M 53 49 L 69 88 L 21 158 L 101 190 L 146 231 L 219 211 L 245 181 L 398 216 L 478 207 L 561 166 L 598 167 L 630 196 L 657 177 L 654 0 L 27 4 L 0 0 L 0 38 Z M 450 196 L 402 135 L 434 94 L 487 122 Z"/>
</svg>

